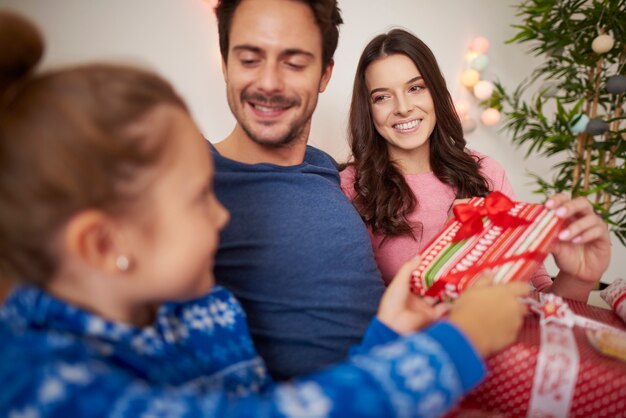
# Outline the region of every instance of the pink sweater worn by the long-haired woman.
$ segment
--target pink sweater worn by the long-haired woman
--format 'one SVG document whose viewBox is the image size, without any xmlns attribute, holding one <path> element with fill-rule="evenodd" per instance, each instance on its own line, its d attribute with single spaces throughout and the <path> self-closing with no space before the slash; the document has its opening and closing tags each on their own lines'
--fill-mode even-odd
<svg viewBox="0 0 626 418">
<path fill-rule="evenodd" d="M 515 199 L 513 188 L 502 166 L 490 157 L 476 152 L 474 154 L 483 158 L 481 173 L 489 182 L 490 190 L 498 190 L 511 199 Z M 354 191 L 354 167 L 346 168 L 340 173 L 340 176 L 341 189 L 352 200 L 356 194 Z M 452 187 L 439 181 L 432 172 L 406 174 L 404 179 L 418 199 L 417 209 L 409 215 L 408 220 L 415 224 L 421 223 L 423 232 L 421 237 L 417 236 L 417 240 L 403 235 L 390 238 L 381 245 L 384 236 L 372 234 L 372 230 L 368 226 L 376 263 L 385 284 L 391 282 L 404 262 L 420 252 L 422 245 L 428 244 L 437 235 L 446 223 L 448 210 L 455 199 Z M 552 284 L 552 280 L 543 266 L 537 270 L 531 281 L 537 290 L 542 290 Z"/>
</svg>

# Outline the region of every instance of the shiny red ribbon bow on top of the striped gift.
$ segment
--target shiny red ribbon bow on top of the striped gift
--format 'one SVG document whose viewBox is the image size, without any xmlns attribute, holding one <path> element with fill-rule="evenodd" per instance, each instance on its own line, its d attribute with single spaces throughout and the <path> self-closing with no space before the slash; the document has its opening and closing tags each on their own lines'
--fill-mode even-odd
<svg viewBox="0 0 626 418">
<path fill-rule="evenodd" d="M 526 219 L 518 218 L 508 214 L 515 204 L 511 199 L 500 192 L 493 192 L 485 198 L 483 206 L 474 206 L 470 203 L 460 203 L 453 208 L 454 217 L 461 222 L 461 229 L 458 230 L 452 242 L 478 234 L 483 230 L 483 216 L 488 217 L 494 225 L 502 228 L 512 228 L 526 225 Z"/>
</svg>

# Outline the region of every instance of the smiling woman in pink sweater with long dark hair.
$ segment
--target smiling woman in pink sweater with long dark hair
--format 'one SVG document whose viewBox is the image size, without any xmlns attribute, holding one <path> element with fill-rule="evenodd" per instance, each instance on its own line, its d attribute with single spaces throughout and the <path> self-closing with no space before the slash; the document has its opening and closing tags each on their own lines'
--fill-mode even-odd
<svg viewBox="0 0 626 418">
<path fill-rule="evenodd" d="M 361 54 L 349 140 L 353 160 L 341 173 L 342 189 L 370 230 L 387 284 L 443 227 L 458 199 L 494 190 L 514 198 L 504 169 L 466 148 L 434 55 L 405 30 L 376 36 Z M 541 267 L 532 283 L 537 290 L 586 301 L 608 266 L 610 243 L 606 225 L 585 199 L 571 205 L 562 215 L 578 221 L 563 231 L 554 253 L 561 272 L 553 284 Z M 598 258 L 580 258 L 576 268 L 564 269 L 565 257 L 579 256 L 584 247 Z"/>
</svg>

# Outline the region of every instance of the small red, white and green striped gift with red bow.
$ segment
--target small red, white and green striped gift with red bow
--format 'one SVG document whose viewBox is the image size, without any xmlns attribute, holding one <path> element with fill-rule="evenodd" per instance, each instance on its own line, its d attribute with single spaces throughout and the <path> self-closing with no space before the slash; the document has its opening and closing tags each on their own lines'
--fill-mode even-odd
<svg viewBox="0 0 626 418">
<path fill-rule="evenodd" d="M 472 198 L 454 212 L 421 252 L 411 279 L 419 295 L 455 298 L 488 269 L 496 283 L 529 280 L 564 223 L 544 205 L 513 202 L 499 192 Z"/>
</svg>

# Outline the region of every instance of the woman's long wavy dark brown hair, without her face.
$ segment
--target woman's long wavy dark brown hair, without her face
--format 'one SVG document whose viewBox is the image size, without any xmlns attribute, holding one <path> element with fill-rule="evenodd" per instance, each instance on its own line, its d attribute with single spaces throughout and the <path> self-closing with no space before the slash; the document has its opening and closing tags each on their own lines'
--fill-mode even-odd
<svg viewBox="0 0 626 418">
<path fill-rule="evenodd" d="M 484 196 L 489 186 L 479 172 L 480 161 L 465 149 L 461 123 L 431 50 L 402 29 L 376 36 L 359 59 L 350 105 L 348 137 L 352 161 L 348 165 L 356 172 L 353 204 L 374 233 L 415 237 L 416 230 L 421 232 L 421 225 L 411 225 L 407 216 L 419 202 L 389 159 L 385 139 L 376 131 L 365 82 L 365 72 L 372 62 L 394 54 L 413 61 L 433 99 L 437 118 L 429 145 L 433 173 L 455 189 L 457 198 Z"/>
</svg>

